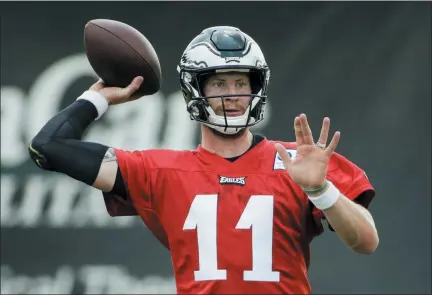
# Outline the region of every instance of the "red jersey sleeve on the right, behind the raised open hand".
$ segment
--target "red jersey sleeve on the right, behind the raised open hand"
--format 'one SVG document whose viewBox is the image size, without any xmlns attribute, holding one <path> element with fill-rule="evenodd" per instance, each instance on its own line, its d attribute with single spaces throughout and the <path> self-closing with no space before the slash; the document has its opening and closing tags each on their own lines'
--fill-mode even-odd
<svg viewBox="0 0 432 295">
<path fill-rule="evenodd" d="M 339 189 L 341 194 L 365 208 L 369 207 L 369 204 L 375 197 L 375 190 L 366 173 L 356 164 L 338 153 L 333 153 L 330 158 L 327 179 Z M 315 208 L 312 203 L 310 205 L 313 208 L 312 213 L 315 223 L 319 228 L 319 232 L 322 232 L 324 213 Z M 333 230 L 330 226 L 329 228 Z"/>
</svg>

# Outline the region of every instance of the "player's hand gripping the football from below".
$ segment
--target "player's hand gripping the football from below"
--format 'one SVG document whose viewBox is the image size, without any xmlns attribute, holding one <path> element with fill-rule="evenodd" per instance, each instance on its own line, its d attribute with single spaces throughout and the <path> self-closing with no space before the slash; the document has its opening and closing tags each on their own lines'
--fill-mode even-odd
<svg viewBox="0 0 432 295">
<path fill-rule="evenodd" d="M 139 95 L 134 93 L 141 86 L 144 78 L 141 76 L 135 77 L 132 82 L 125 88 L 121 87 L 107 87 L 104 82 L 100 79 L 93 84 L 89 90 L 97 91 L 102 94 L 110 105 L 121 104 L 128 101 L 138 99 Z"/>
</svg>

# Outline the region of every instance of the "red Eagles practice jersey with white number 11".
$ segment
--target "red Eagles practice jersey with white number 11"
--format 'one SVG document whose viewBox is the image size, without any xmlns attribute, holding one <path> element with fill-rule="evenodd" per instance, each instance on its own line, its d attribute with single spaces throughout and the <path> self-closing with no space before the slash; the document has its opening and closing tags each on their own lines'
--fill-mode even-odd
<svg viewBox="0 0 432 295">
<path fill-rule="evenodd" d="M 179 294 L 308 294 L 309 244 L 323 214 L 264 139 L 234 162 L 204 150 L 116 150 L 129 200 L 105 196 L 112 216 L 139 214 L 170 249 Z M 283 143 L 295 157 L 295 143 Z M 328 177 L 350 199 L 373 188 L 339 154 Z M 130 202 L 130 203 L 128 203 Z"/>
</svg>

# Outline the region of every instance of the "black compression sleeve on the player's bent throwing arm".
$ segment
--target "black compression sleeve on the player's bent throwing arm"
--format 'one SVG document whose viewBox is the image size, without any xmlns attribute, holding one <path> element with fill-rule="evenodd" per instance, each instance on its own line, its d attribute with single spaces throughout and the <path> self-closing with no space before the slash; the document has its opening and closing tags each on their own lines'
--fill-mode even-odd
<svg viewBox="0 0 432 295">
<path fill-rule="evenodd" d="M 88 101 L 72 103 L 33 138 L 29 146 L 31 159 L 44 170 L 60 172 L 92 185 L 108 147 L 81 138 L 97 115 L 95 106 Z"/>
</svg>

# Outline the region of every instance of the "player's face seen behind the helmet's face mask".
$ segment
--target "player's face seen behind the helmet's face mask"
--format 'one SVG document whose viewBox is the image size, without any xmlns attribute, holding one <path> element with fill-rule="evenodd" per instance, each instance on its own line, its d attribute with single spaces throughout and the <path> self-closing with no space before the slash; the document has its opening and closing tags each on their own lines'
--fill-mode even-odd
<svg viewBox="0 0 432 295">
<path fill-rule="evenodd" d="M 252 94 L 249 76 L 245 73 L 216 74 L 207 79 L 203 85 L 205 96 L 223 96 Z M 227 117 L 241 116 L 245 113 L 250 96 L 232 96 L 224 98 L 224 107 Z M 223 116 L 222 100 L 209 98 L 208 103 L 216 115 Z"/>
</svg>

